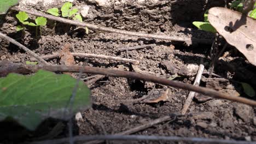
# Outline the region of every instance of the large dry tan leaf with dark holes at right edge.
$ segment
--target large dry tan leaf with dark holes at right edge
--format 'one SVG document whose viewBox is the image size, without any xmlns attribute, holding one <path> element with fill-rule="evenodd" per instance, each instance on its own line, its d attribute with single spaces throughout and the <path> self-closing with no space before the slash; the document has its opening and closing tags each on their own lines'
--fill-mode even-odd
<svg viewBox="0 0 256 144">
<path fill-rule="evenodd" d="M 214 7 L 209 10 L 208 20 L 226 41 L 256 65 L 256 20 L 237 11 Z"/>
</svg>

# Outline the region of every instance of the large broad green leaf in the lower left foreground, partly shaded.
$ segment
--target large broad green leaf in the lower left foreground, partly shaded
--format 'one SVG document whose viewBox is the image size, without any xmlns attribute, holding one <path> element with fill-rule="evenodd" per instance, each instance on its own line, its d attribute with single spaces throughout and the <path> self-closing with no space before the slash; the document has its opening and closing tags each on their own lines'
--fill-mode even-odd
<svg viewBox="0 0 256 144">
<path fill-rule="evenodd" d="M 70 118 L 79 110 L 91 106 L 90 90 L 79 81 L 72 112 L 66 106 L 77 80 L 66 74 L 39 70 L 32 76 L 9 74 L 0 78 L 0 122 L 15 120 L 29 130 L 35 130 L 44 119 Z"/>
</svg>

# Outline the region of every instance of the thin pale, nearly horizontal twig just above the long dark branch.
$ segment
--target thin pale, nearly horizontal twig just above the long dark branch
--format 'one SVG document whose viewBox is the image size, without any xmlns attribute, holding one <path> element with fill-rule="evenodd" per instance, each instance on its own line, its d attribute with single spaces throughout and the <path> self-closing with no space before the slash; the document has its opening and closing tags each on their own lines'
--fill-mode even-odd
<svg viewBox="0 0 256 144">
<path fill-rule="evenodd" d="M 74 57 L 90 57 L 90 58 L 102 58 L 102 59 L 109 59 L 114 61 L 121 61 L 121 62 L 129 62 L 133 64 L 139 64 L 139 61 L 135 59 L 128 59 L 128 58 L 122 58 L 122 57 L 113 57 L 113 56 L 106 56 L 106 55 L 96 55 L 93 53 L 71 53 Z M 50 58 L 56 58 L 59 57 L 59 54 L 53 54 L 53 55 L 46 55 L 42 56 L 40 58 L 43 59 L 50 59 Z M 31 61 L 34 61 L 34 58 L 31 58 Z"/>
</svg>

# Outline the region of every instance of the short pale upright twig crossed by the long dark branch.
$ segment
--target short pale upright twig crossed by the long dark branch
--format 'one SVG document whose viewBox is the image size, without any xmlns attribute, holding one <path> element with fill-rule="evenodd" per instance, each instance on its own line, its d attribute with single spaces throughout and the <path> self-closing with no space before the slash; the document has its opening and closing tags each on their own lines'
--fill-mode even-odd
<svg viewBox="0 0 256 144">
<path fill-rule="evenodd" d="M 196 78 L 195 78 L 195 81 L 194 81 L 194 86 L 199 86 L 200 81 L 201 81 L 201 77 L 202 77 L 202 72 L 203 72 L 204 68 L 205 67 L 203 66 L 203 64 L 199 65 L 197 75 L 196 75 Z M 188 98 L 185 101 L 185 104 L 183 105 L 183 108 L 182 108 L 182 111 L 181 111 L 182 115 L 185 115 L 185 113 L 187 112 L 188 107 L 190 106 L 191 101 L 193 100 L 194 96 L 195 96 L 195 92 L 189 92 Z"/>
</svg>

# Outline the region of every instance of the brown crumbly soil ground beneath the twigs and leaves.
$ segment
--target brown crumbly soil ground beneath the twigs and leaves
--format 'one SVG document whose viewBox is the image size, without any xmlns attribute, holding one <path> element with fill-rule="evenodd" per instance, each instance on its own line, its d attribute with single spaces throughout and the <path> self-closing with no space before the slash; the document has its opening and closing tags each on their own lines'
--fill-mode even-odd
<svg viewBox="0 0 256 144">
<path fill-rule="evenodd" d="M 76 1 L 74 5 L 90 5 L 86 22 L 124 29 L 127 31 L 167 34 L 180 32 L 181 37 L 213 38 L 212 34 L 197 30 L 191 25 L 193 21 L 202 20 L 206 9 L 214 6 L 225 7 L 224 1 L 158 1 L 156 3 L 111 3 L 107 8 L 98 7 L 87 1 Z M 39 9 L 39 8 L 36 8 Z M 0 31 L 18 40 L 39 55 L 58 53 L 66 43 L 72 45 L 72 52 L 95 53 L 108 56 L 129 57 L 136 59 L 139 65 L 124 62 L 109 61 L 98 58 L 75 57 L 77 65 L 91 67 L 136 71 L 141 73 L 168 78 L 173 75 L 170 65 L 183 67 L 184 65 L 199 65 L 203 58 L 206 70 L 211 59 L 208 57 L 211 45 L 191 44 L 166 40 L 138 38 L 129 35 L 107 33 L 89 29 L 84 31 L 65 31 L 66 25 L 57 22 L 58 27 L 43 27 L 42 37 L 36 39 L 34 29 L 27 28 L 22 37 L 21 32 L 15 31 L 18 25 L 15 19 L 17 11 L 10 11 L 2 17 Z M 144 44 L 156 44 L 147 49 L 119 52 L 120 47 Z M 0 60 L 14 63 L 30 61 L 31 56 L 19 50 L 8 41 L 0 39 Z M 241 53 L 229 47 L 228 55 L 219 59 L 214 73 L 225 79 L 208 78 L 203 75 L 201 86 L 216 89 L 232 95 L 246 97 L 239 82 L 256 86 L 255 70 Z M 60 64 L 59 58 L 49 59 L 52 64 Z M 206 71 L 205 70 L 205 71 Z M 84 74 L 84 77 L 91 76 Z M 226 80 L 231 79 L 231 80 Z M 193 83 L 194 76 L 181 76 L 174 79 L 184 83 Z M 82 112 L 83 120 L 76 122 L 77 135 L 115 134 L 153 121 L 166 115 L 179 115 L 188 91 L 173 87 L 135 81 L 119 77 L 104 76 L 89 85 L 93 99 L 92 108 Z M 153 95 L 159 97 L 168 90 L 167 101 L 159 103 L 143 103 L 143 101 L 129 101 Z M 252 98 L 251 98 L 252 99 Z M 166 135 L 166 136 L 195 136 L 213 139 L 234 139 L 256 141 L 255 108 L 228 100 L 210 98 L 197 95 L 185 116 L 177 116 L 173 121 L 156 124 L 151 128 L 138 131 L 138 135 Z M 58 137 L 67 135 L 66 131 Z M 112 142 L 112 143 L 120 143 Z M 127 142 L 121 142 L 127 143 Z M 130 142 L 128 142 L 130 143 Z M 132 143 L 167 143 L 165 141 L 133 141 Z"/>
</svg>

